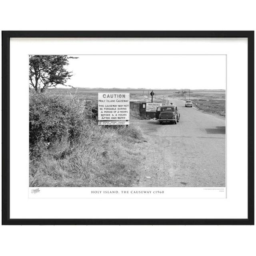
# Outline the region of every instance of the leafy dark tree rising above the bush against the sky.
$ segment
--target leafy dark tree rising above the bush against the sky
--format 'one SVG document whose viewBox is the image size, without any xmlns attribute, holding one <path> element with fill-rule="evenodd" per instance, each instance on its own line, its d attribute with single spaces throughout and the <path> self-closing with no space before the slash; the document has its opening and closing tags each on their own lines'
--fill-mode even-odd
<svg viewBox="0 0 256 256">
<path fill-rule="evenodd" d="M 30 86 L 36 91 L 43 92 L 49 87 L 56 87 L 57 84 L 67 85 L 66 82 L 72 76 L 65 68 L 68 59 L 67 55 L 32 55 L 29 58 L 29 80 Z"/>
</svg>

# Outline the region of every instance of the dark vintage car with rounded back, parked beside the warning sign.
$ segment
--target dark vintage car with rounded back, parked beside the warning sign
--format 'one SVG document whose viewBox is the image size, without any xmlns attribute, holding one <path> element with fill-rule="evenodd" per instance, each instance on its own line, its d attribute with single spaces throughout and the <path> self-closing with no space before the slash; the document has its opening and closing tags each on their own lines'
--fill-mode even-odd
<svg viewBox="0 0 256 256">
<path fill-rule="evenodd" d="M 160 124 L 170 122 L 177 124 L 180 120 L 180 112 L 177 106 L 165 105 L 156 109 L 156 118 L 158 118 Z"/>
</svg>

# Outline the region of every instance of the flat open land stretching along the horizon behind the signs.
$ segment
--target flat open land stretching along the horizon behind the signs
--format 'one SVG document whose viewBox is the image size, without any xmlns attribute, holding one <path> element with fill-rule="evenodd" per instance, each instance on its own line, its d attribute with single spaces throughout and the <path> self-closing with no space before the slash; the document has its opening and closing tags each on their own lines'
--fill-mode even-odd
<svg viewBox="0 0 256 256">
<path fill-rule="evenodd" d="M 150 92 L 152 89 L 102 89 L 102 88 L 54 88 L 48 90 L 52 94 L 60 94 L 72 96 L 79 100 L 92 100 L 97 104 L 98 92 L 129 92 L 131 101 L 151 102 Z M 192 100 L 194 107 L 199 110 L 226 116 L 226 90 L 187 90 L 187 89 L 172 89 L 160 90 L 153 89 L 154 102 L 169 104 L 172 99 Z"/>
</svg>

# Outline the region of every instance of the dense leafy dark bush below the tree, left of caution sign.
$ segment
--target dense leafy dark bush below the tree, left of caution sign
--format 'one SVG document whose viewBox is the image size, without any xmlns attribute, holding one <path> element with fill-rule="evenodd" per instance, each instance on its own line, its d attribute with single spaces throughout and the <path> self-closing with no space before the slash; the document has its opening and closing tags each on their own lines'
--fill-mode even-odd
<svg viewBox="0 0 256 256">
<path fill-rule="evenodd" d="M 40 155 L 50 143 L 66 136 L 70 140 L 85 132 L 88 122 L 83 106 L 74 100 L 47 93 L 30 92 L 30 152 Z"/>
</svg>

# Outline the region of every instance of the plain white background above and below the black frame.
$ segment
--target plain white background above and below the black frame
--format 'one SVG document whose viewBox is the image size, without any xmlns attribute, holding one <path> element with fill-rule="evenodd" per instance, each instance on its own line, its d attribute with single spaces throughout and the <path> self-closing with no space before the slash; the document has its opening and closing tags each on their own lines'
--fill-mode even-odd
<svg viewBox="0 0 256 256">
<path fill-rule="evenodd" d="M 4 1 L 1 30 L 255 30 L 255 1 Z M 2 255 L 253 255 L 255 226 L 1 226 Z"/>
</svg>

